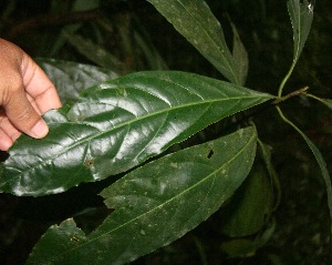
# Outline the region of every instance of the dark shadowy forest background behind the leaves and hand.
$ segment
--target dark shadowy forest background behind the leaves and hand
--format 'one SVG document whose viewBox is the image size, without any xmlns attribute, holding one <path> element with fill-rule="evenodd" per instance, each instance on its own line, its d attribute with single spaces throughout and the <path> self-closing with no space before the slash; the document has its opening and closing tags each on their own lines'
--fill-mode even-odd
<svg viewBox="0 0 332 265">
<path fill-rule="evenodd" d="M 84 4 L 74 10 L 74 2 L 1 1 L 0 35 L 17 43 L 33 58 L 94 63 L 68 41 L 59 41 L 65 27 L 79 24 L 80 35 L 112 52 L 129 71 L 138 71 L 152 69 L 132 35 L 134 30 L 139 30 L 159 52 L 168 69 L 222 79 L 146 1 L 105 0 L 87 10 L 80 10 Z M 246 85 L 277 94 L 293 52 L 286 1 L 207 2 L 221 21 L 229 43 L 228 17 L 238 28 L 249 54 Z M 286 91 L 309 85 L 311 93 L 332 99 L 331 14 L 332 1 L 318 0 L 311 33 Z M 332 172 L 331 110 L 303 96 L 294 98 L 282 109 L 318 145 Z M 255 122 L 260 137 L 273 149 L 272 160 L 282 190 L 282 200 L 276 212 L 277 228 L 267 245 L 251 256 L 227 259 L 220 251 L 222 235 L 216 227 L 222 218 L 217 213 L 185 237 L 134 264 L 331 264 L 326 195 L 313 155 L 303 140 L 281 122 L 273 109 L 262 111 Z M 102 200 L 95 194 L 106 184 L 82 185 L 66 194 L 41 198 L 0 194 L 0 264 L 23 264 L 50 225 L 80 211 L 94 207 L 102 218 L 105 211 Z M 97 222 L 95 215 L 85 216 L 81 225 L 93 228 Z"/>
</svg>

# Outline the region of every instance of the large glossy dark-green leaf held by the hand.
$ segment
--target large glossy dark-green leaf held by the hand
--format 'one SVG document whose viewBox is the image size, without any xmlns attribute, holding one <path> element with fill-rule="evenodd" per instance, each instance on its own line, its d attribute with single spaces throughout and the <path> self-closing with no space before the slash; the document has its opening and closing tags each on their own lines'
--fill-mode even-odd
<svg viewBox="0 0 332 265">
<path fill-rule="evenodd" d="M 71 108 L 46 113 L 45 139 L 15 142 L 0 190 L 37 196 L 125 172 L 271 98 L 183 72 L 141 72 L 102 83 L 85 90 Z"/>
</svg>

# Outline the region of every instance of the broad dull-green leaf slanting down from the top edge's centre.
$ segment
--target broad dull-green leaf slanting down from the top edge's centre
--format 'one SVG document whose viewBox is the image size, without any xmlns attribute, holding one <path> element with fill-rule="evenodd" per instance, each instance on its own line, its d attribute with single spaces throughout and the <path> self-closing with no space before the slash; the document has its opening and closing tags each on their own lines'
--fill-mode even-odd
<svg viewBox="0 0 332 265">
<path fill-rule="evenodd" d="M 241 77 L 229 51 L 221 24 L 203 0 L 147 0 L 218 71 L 232 83 Z"/>
</svg>

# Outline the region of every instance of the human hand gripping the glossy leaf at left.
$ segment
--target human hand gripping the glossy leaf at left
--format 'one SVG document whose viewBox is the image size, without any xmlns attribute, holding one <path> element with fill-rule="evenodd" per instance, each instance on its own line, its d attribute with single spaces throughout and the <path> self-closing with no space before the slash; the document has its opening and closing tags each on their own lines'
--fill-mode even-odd
<svg viewBox="0 0 332 265">
<path fill-rule="evenodd" d="M 8 151 L 22 132 L 44 137 L 49 128 L 41 114 L 60 106 L 42 69 L 20 48 L 0 39 L 0 150 Z"/>
</svg>

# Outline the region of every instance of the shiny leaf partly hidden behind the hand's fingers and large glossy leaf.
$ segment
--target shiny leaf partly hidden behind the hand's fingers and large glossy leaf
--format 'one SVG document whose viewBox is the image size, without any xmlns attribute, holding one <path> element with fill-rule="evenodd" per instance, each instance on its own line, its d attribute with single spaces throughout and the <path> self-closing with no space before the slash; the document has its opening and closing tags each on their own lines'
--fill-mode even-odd
<svg viewBox="0 0 332 265">
<path fill-rule="evenodd" d="M 62 104 L 77 101 L 80 93 L 92 85 L 118 78 L 118 74 L 94 65 L 53 59 L 37 59 L 52 80 Z"/>
</svg>

